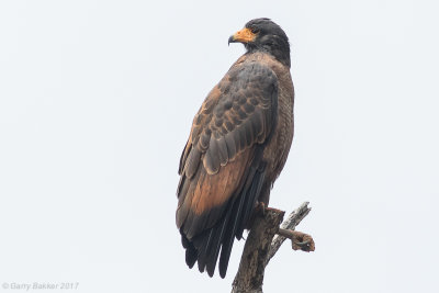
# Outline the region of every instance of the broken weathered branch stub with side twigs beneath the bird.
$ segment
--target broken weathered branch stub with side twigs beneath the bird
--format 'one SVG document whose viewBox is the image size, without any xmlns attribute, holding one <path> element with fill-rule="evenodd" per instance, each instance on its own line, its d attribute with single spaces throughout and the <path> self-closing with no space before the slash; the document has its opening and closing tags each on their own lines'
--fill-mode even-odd
<svg viewBox="0 0 439 293">
<path fill-rule="evenodd" d="M 308 202 L 305 202 L 292 212 L 288 219 L 282 223 L 281 228 L 293 230 L 309 213 L 311 207 L 307 205 Z M 275 235 L 279 233 L 279 224 L 283 219 L 284 213 L 274 209 L 266 209 L 263 215 L 256 216 L 244 247 L 239 269 L 232 285 L 232 293 L 262 293 L 266 267 L 286 239 L 284 236 Z M 288 230 L 283 230 L 282 233 L 292 239 L 293 247 L 294 239 L 296 239 L 294 236 L 308 236 L 303 233 L 290 234 Z M 303 240 L 303 237 L 297 239 Z M 312 237 L 308 237 L 312 241 Z M 314 241 L 312 245 L 314 249 Z M 300 247 L 300 249 L 302 248 Z"/>
</svg>

